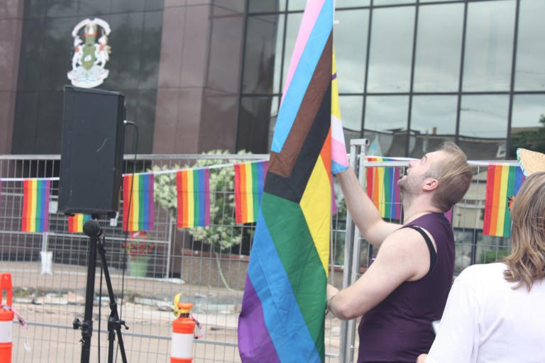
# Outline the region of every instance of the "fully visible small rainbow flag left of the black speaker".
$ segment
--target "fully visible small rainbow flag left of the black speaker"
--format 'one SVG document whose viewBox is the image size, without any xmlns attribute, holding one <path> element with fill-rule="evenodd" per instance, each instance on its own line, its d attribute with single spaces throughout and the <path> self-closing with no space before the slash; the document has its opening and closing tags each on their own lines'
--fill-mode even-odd
<svg viewBox="0 0 545 363">
<path fill-rule="evenodd" d="M 49 230 L 49 192 L 51 181 L 26 179 L 23 181 L 23 232 L 47 232 Z"/>
</svg>

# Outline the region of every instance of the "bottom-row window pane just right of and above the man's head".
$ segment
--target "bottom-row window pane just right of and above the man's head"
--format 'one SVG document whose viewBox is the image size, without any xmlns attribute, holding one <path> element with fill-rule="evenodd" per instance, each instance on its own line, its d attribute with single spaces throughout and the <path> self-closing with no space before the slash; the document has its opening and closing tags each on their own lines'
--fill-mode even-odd
<svg viewBox="0 0 545 363">
<path fill-rule="evenodd" d="M 505 159 L 509 96 L 463 96 L 459 145 L 469 160 Z"/>
</svg>

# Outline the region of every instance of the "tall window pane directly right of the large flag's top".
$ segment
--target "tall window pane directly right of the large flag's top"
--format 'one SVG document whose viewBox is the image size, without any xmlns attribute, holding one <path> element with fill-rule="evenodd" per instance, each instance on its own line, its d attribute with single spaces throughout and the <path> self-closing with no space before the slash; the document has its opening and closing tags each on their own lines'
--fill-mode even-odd
<svg viewBox="0 0 545 363">
<path fill-rule="evenodd" d="M 363 93 L 369 11 L 336 11 L 335 19 L 339 21 L 333 29 L 338 91 Z"/>
</svg>

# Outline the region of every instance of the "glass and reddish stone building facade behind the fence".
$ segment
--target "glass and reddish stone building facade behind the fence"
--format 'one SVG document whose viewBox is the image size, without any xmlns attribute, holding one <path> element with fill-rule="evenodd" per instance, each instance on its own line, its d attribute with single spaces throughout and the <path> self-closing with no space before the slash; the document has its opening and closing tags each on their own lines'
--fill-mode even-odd
<svg viewBox="0 0 545 363">
<path fill-rule="evenodd" d="M 305 3 L 2 1 L 0 153 L 60 152 L 71 33 L 85 18 L 111 26 L 98 88 L 126 95 L 139 152 L 266 153 Z M 472 160 L 544 147 L 544 17 L 541 0 L 336 1 L 346 138 L 410 157 L 453 140 Z"/>
</svg>

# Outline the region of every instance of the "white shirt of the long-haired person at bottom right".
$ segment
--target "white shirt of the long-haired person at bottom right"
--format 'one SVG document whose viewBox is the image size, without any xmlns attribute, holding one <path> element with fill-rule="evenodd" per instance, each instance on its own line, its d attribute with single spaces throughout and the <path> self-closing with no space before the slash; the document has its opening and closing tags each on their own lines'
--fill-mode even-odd
<svg viewBox="0 0 545 363">
<path fill-rule="evenodd" d="M 545 362 L 545 282 L 512 289 L 505 269 L 476 264 L 456 278 L 426 363 Z"/>
</svg>

